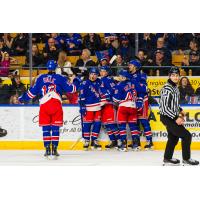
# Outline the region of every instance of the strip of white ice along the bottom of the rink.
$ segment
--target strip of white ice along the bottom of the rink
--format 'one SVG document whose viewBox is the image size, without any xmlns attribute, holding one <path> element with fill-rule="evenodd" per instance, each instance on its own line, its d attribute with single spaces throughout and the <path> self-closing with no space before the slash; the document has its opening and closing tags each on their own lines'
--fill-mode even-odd
<svg viewBox="0 0 200 200">
<path fill-rule="evenodd" d="M 47 160 L 44 151 L 0 150 L 2 165 L 54 165 L 54 166 L 162 166 L 163 151 L 119 152 L 110 151 L 59 151 L 58 160 Z M 181 151 L 174 157 L 182 159 Z M 192 158 L 200 160 L 200 151 L 192 151 Z"/>
</svg>

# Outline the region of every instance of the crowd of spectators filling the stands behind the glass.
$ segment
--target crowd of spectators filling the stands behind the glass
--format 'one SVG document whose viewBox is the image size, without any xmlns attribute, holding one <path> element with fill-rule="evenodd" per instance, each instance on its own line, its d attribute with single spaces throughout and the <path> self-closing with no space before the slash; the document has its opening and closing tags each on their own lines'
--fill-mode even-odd
<svg viewBox="0 0 200 200">
<path fill-rule="evenodd" d="M 45 70 L 48 60 L 57 61 L 56 73 L 72 78 L 88 77 L 88 67 L 109 65 L 112 75 L 117 76 L 127 68 L 131 59 L 138 59 L 143 72 L 148 76 L 166 76 L 165 66 L 177 65 L 181 75 L 200 75 L 200 34 L 199 33 L 34 33 L 32 34 L 32 67 L 35 75 Z M 9 77 L 12 85 L 0 86 L 2 103 L 17 103 L 16 96 L 25 86 L 20 82 L 21 72 L 29 75 L 29 34 L 0 34 L 0 77 Z M 146 67 L 147 66 L 147 67 Z M 192 67 L 191 66 L 195 66 Z M 17 70 L 16 70 L 17 69 Z M 181 101 L 188 103 L 195 92 L 189 79 L 180 81 Z M 2 100 L 2 94 L 4 100 Z M 66 97 L 66 99 L 70 99 Z"/>
</svg>

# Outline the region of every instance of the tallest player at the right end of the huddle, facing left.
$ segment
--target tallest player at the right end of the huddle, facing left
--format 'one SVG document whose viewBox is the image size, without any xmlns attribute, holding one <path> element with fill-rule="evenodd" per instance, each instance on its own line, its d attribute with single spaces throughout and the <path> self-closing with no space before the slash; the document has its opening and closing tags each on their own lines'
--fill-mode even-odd
<svg viewBox="0 0 200 200">
<path fill-rule="evenodd" d="M 144 129 L 144 134 L 146 136 L 147 144 L 144 146 L 145 150 L 153 149 L 153 142 L 152 142 L 152 132 L 150 123 L 148 120 L 148 92 L 147 92 L 147 76 L 145 73 L 141 72 L 141 64 L 138 60 L 131 60 L 129 62 L 129 73 L 132 77 L 132 80 L 135 80 L 140 84 L 140 86 L 143 88 L 140 91 L 139 96 L 143 99 L 143 105 L 142 108 L 140 108 L 137 112 L 138 117 L 138 131 L 140 124 L 142 125 Z M 133 141 L 134 142 L 134 141 Z M 140 141 L 138 144 L 136 143 L 135 146 L 137 146 L 137 149 L 141 149 L 140 147 Z M 133 145 L 134 146 L 134 145 Z"/>
</svg>

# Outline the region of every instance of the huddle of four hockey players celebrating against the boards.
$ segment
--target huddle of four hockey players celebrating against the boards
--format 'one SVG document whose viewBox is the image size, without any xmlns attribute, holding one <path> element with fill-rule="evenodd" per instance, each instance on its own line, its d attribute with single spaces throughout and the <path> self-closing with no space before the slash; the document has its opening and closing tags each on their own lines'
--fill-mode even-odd
<svg viewBox="0 0 200 200">
<path fill-rule="evenodd" d="M 152 133 L 148 121 L 147 77 L 141 72 L 137 60 L 129 62 L 128 70 L 119 72 L 116 82 L 110 75 L 109 66 L 91 68 L 89 78 L 80 86 L 80 110 L 84 149 L 101 149 L 98 135 L 103 125 L 110 139 L 106 149 L 117 148 L 127 151 L 128 147 L 140 150 L 140 125 L 143 127 L 147 144 L 152 149 Z M 100 77 L 99 77 L 100 74 Z M 117 113 L 117 116 L 116 116 Z M 132 144 L 127 145 L 129 126 Z"/>
</svg>

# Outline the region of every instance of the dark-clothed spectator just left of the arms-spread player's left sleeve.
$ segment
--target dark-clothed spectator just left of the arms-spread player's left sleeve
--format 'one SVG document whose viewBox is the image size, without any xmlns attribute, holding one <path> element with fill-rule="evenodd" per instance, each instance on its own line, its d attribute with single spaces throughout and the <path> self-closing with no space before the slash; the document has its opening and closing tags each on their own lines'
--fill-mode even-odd
<svg viewBox="0 0 200 200">
<path fill-rule="evenodd" d="M 21 96 L 25 91 L 26 87 L 20 80 L 19 75 L 11 76 L 12 85 L 10 86 L 10 91 L 12 95 Z"/>
</svg>

